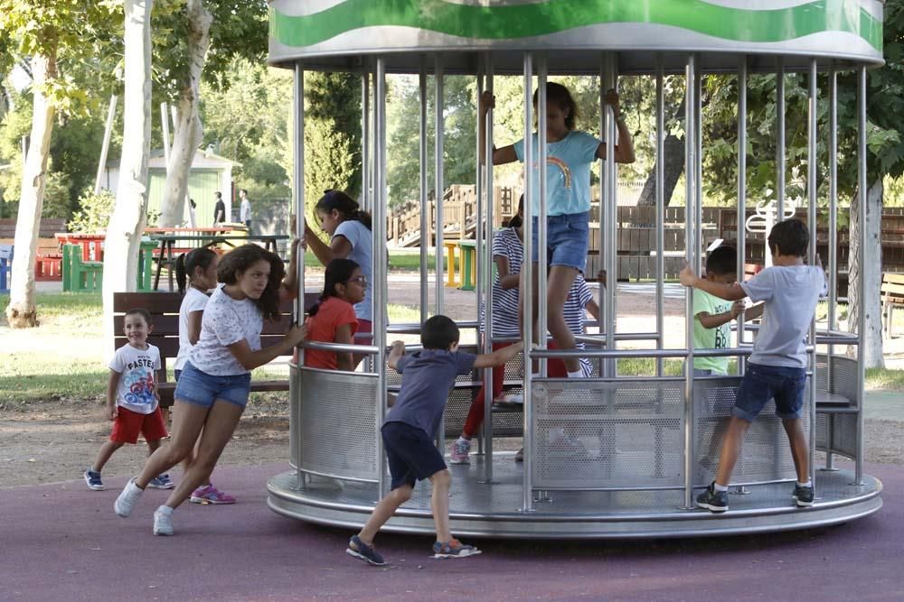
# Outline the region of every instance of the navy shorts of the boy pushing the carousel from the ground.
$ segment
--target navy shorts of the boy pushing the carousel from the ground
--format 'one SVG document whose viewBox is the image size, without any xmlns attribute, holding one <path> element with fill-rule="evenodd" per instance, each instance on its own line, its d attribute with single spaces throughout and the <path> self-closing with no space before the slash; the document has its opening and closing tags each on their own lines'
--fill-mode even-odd
<svg viewBox="0 0 904 602">
<path fill-rule="evenodd" d="M 446 460 L 423 429 L 405 422 L 387 422 L 381 429 L 392 485 L 414 486 L 418 481 L 446 470 Z"/>
</svg>

